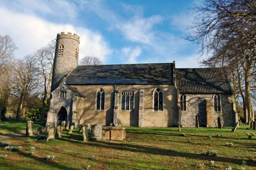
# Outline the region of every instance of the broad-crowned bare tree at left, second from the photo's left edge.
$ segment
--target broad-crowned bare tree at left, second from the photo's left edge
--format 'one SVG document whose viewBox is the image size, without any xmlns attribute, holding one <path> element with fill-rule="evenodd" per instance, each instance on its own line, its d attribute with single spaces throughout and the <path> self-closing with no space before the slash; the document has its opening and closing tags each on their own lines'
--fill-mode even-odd
<svg viewBox="0 0 256 170">
<path fill-rule="evenodd" d="M 26 56 L 24 60 L 17 60 L 11 77 L 10 94 L 19 99 L 16 120 L 25 118 L 25 107 L 28 99 L 39 94 L 39 70 L 33 56 Z"/>
</svg>

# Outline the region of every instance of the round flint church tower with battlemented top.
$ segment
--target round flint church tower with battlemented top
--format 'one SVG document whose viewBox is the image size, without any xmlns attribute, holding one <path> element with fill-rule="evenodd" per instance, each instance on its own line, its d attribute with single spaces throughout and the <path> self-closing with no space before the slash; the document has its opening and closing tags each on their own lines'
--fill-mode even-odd
<svg viewBox="0 0 256 170">
<path fill-rule="evenodd" d="M 55 57 L 53 63 L 51 92 L 55 90 L 60 81 L 78 65 L 79 36 L 76 34 L 57 34 Z"/>
</svg>

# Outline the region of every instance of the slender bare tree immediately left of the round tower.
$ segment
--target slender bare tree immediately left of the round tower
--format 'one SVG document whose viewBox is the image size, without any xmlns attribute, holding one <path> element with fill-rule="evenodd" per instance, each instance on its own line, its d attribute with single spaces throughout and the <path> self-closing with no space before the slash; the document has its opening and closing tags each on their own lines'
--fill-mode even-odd
<svg viewBox="0 0 256 170">
<path fill-rule="evenodd" d="M 41 121 L 44 120 L 47 99 L 50 94 L 55 46 L 56 46 L 56 42 L 52 41 L 48 43 L 47 46 L 38 49 L 34 53 L 34 57 L 38 60 L 39 70 L 44 79 L 43 81 L 44 99 L 43 99 L 43 106 L 42 106 L 41 118 L 40 118 Z"/>
</svg>

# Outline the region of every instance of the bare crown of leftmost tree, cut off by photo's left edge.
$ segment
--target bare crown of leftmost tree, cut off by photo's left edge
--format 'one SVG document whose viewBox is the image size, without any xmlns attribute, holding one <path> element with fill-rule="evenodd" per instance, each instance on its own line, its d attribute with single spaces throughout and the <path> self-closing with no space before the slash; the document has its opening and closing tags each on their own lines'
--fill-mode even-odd
<svg viewBox="0 0 256 170">
<path fill-rule="evenodd" d="M 13 57 L 14 51 L 17 49 L 18 48 L 9 35 L 0 35 L 0 67 Z"/>
</svg>

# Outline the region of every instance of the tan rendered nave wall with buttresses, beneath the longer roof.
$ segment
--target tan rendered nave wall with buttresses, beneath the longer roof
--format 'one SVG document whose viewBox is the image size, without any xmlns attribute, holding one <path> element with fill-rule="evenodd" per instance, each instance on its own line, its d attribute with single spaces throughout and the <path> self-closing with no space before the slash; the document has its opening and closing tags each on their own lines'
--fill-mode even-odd
<svg viewBox="0 0 256 170">
<path fill-rule="evenodd" d="M 77 107 L 83 105 L 83 112 L 78 111 L 83 124 L 91 123 L 109 126 L 113 123 L 114 86 L 113 85 L 76 85 L 84 95 L 84 102 L 77 101 Z M 153 90 L 160 87 L 164 91 L 163 111 L 154 111 Z M 98 88 L 105 90 L 105 110 L 96 110 L 96 95 Z M 139 91 L 144 89 L 143 127 L 176 126 L 178 117 L 175 115 L 176 88 L 173 85 L 116 85 L 119 90 L 134 90 L 134 110 L 121 110 L 121 93 L 119 93 L 119 118 L 123 126 L 139 126 Z M 79 117 L 78 116 L 78 117 Z"/>
</svg>

